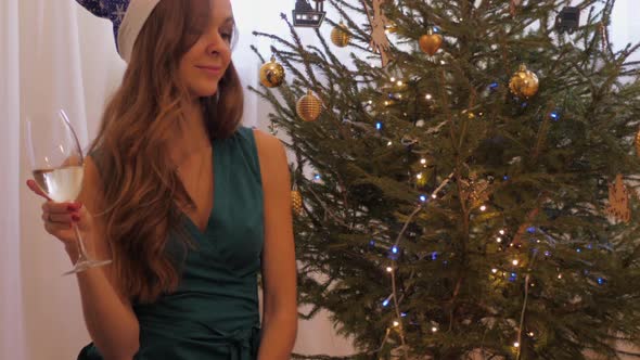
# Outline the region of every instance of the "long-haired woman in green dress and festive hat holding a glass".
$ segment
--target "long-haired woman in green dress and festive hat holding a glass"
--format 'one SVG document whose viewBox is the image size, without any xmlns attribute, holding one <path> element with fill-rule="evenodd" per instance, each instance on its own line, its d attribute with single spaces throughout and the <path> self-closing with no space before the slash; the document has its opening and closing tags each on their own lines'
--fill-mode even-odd
<svg viewBox="0 0 640 360">
<path fill-rule="evenodd" d="M 239 125 L 229 0 L 78 2 L 112 18 L 128 62 L 78 201 L 42 206 L 72 261 L 72 221 L 94 258 L 113 259 L 77 274 L 93 340 L 79 359 L 289 359 L 290 175 L 278 139 Z"/>
</svg>

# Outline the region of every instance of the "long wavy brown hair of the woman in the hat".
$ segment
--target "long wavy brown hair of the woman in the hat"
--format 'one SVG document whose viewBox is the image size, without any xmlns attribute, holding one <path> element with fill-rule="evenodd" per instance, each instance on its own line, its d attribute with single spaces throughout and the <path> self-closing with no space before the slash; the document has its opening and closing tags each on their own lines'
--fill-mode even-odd
<svg viewBox="0 0 640 360">
<path fill-rule="evenodd" d="M 119 292 L 151 303 L 175 291 L 180 258 L 169 234 L 189 246 L 180 210 L 195 207 L 171 163 L 167 139 L 184 119 L 187 87 L 180 59 L 197 41 L 208 0 L 161 1 L 144 24 L 120 87 L 107 103 L 89 153 L 102 178 L 105 224 Z M 201 99 L 209 140 L 229 138 L 240 125 L 243 94 L 231 63 L 216 95 Z"/>
</svg>

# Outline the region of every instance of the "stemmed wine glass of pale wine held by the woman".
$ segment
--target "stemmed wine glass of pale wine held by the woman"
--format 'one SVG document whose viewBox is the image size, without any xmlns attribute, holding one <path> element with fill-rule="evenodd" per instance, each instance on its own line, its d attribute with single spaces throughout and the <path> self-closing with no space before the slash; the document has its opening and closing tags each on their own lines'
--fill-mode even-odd
<svg viewBox="0 0 640 360">
<path fill-rule="evenodd" d="M 63 110 L 39 111 L 27 117 L 25 125 L 34 180 L 52 201 L 75 201 L 82 189 L 85 156 L 67 115 Z M 77 223 L 73 222 L 73 229 L 79 258 L 65 275 L 112 262 L 92 259 L 87 254 Z"/>
</svg>

